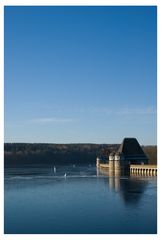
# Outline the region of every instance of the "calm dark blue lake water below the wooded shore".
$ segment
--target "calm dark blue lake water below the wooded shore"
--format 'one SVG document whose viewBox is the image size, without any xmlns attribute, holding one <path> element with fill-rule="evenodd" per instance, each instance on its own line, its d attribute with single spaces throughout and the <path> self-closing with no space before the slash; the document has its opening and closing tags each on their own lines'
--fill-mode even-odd
<svg viewBox="0 0 161 240">
<path fill-rule="evenodd" d="M 108 177 L 91 165 L 6 168 L 4 203 L 5 233 L 157 232 L 155 177 Z"/>
</svg>

